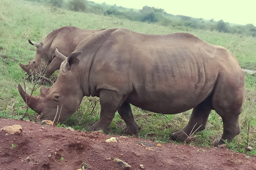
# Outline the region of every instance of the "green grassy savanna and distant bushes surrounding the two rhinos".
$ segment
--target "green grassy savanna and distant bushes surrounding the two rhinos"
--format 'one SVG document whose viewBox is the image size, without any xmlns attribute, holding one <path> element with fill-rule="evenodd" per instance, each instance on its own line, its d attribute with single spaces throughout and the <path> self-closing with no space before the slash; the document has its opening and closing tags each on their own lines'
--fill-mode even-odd
<svg viewBox="0 0 256 170">
<path fill-rule="evenodd" d="M 77 6 L 76 3 L 83 3 L 84 6 Z M 121 13 L 117 15 L 117 11 L 114 9 L 119 9 L 117 11 L 123 12 L 125 15 Z M 144 10 L 149 11 L 149 14 L 143 14 L 146 12 Z M 133 12 L 137 12 L 139 15 L 135 15 Z M 130 18 L 128 14 L 130 14 Z M 156 20 L 150 19 L 153 16 L 156 17 Z M 192 23 L 189 24 L 189 22 L 194 24 L 194 21 L 197 21 L 198 24 L 192 27 Z M 30 2 L 0 0 L 0 117 L 17 119 L 24 117 L 26 120 L 37 121 L 38 115 L 31 109 L 28 109 L 27 112 L 27 107 L 17 88 L 18 83 L 26 84 L 28 93 L 35 87 L 33 94 L 40 94 L 40 85 L 36 81 L 29 81 L 19 66 L 19 63 L 28 63 L 35 55 L 36 49 L 29 45 L 28 39 L 40 42 L 54 29 L 67 25 L 74 25 L 82 29 L 124 27 L 151 34 L 190 32 L 208 43 L 226 47 L 237 57 L 244 69 L 256 70 L 256 37 L 252 35 L 256 31 L 253 30 L 255 27 L 251 24 L 236 25 L 226 28 L 231 30 L 231 28 L 239 27 L 241 31 L 223 31 L 220 28 L 216 29 L 219 23 L 222 21 L 214 22 L 213 20 L 204 21 L 203 19 L 189 19 L 185 16 L 172 16 L 166 14 L 162 9 L 153 7 L 132 10 L 83 0 L 50 0 L 47 3 L 43 0 L 31 0 Z M 204 29 L 201 29 L 199 24 L 212 24 L 212 27 L 205 26 Z M 57 75 L 58 73 L 55 73 L 53 79 Z M 253 150 L 248 151 L 247 154 L 256 155 L 256 77 L 255 74 L 247 73 L 245 76 L 246 97 L 243 112 L 239 118 L 242 132 L 227 147 L 245 153 L 248 144 Z M 191 113 L 191 111 L 187 111 L 176 115 L 161 115 L 137 107 L 132 107 L 132 109 L 135 121 L 141 126 L 139 137 L 150 138 L 157 142 L 169 142 L 170 133 L 186 126 Z M 71 126 L 76 130 L 86 131 L 90 124 L 98 121 L 99 112 L 98 98 L 84 97 L 77 112 L 58 126 Z M 116 113 L 110 124 L 110 134 L 121 135 L 124 126 L 124 121 Z M 214 139 L 218 140 L 221 134 L 221 117 L 212 111 L 206 124 L 206 130 L 196 133 L 196 138 L 191 137 L 186 142 L 191 145 L 210 147 L 213 146 Z"/>
</svg>

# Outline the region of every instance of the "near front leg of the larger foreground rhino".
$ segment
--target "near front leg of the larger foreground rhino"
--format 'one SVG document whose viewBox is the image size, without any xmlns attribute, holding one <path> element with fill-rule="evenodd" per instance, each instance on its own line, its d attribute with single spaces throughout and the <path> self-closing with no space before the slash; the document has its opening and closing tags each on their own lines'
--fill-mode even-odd
<svg viewBox="0 0 256 170">
<path fill-rule="evenodd" d="M 107 133 L 108 126 L 123 102 L 123 97 L 117 94 L 117 92 L 105 89 L 100 90 L 100 119 L 94 125 L 90 126 L 89 131 L 103 130 L 104 133 Z"/>
</svg>

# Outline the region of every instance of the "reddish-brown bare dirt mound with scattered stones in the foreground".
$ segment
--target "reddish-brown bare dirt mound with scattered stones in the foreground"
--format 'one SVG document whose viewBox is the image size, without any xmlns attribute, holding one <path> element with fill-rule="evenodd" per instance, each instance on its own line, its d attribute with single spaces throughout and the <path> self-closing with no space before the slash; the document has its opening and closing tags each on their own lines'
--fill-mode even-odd
<svg viewBox="0 0 256 170">
<path fill-rule="evenodd" d="M 141 138 L 101 132 L 72 132 L 64 128 L 0 119 L 4 126 L 21 125 L 22 132 L 0 131 L 0 169 L 256 169 L 255 156 L 228 149 L 155 143 Z M 157 145 L 158 144 L 158 145 Z"/>
</svg>

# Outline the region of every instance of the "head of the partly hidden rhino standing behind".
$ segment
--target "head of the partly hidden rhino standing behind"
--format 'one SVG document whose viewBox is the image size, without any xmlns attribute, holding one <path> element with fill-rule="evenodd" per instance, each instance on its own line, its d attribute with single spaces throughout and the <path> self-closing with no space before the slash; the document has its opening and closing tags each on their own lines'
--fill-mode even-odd
<svg viewBox="0 0 256 170">
<path fill-rule="evenodd" d="M 29 44 L 35 46 L 36 49 L 36 55 L 33 58 L 33 60 L 29 61 L 29 63 L 27 65 L 24 64 L 19 64 L 21 69 L 23 69 L 25 72 L 27 72 L 27 74 L 31 77 L 31 75 L 35 76 L 35 75 L 42 75 L 43 71 L 41 66 L 45 65 L 46 63 L 42 63 L 42 60 L 44 61 L 46 59 L 47 61 L 47 53 L 45 52 L 45 50 L 42 48 L 42 44 L 41 43 L 36 43 L 34 41 L 30 41 L 28 40 Z"/>
</svg>

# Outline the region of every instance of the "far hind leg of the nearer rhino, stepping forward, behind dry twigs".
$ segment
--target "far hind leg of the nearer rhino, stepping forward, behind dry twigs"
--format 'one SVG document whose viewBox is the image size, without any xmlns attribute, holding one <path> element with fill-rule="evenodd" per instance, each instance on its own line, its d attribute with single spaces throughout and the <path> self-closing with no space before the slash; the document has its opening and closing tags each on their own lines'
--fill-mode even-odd
<svg viewBox="0 0 256 170">
<path fill-rule="evenodd" d="M 204 130 L 211 110 L 211 97 L 209 97 L 193 109 L 188 125 L 183 130 L 173 132 L 171 139 L 185 141 L 190 134 Z"/>
</svg>

